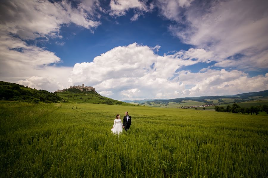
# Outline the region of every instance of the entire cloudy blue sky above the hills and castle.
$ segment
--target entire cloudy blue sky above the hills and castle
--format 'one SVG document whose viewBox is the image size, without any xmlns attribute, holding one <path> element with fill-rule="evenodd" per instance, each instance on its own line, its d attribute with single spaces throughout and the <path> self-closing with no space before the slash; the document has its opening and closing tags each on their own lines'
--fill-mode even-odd
<svg viewBox="0 0 268 178">
<path fill-rule="evenodd" d="M 0 80 L 117 100 L 268 89 L 267 0 L 9 0 Z"/>
</svg>

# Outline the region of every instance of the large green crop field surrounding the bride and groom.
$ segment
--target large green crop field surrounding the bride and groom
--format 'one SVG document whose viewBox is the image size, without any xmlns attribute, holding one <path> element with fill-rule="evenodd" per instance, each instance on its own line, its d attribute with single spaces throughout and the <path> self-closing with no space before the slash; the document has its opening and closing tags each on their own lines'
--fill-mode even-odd
<svg viewBox="0 0 268 178">
<path fill-rule="evenodd" d="M 116 114 L 132 116 L 119 137 Z M 1 177 L 267 177 L 268 117 L 0 102 Z"/>
</svg>

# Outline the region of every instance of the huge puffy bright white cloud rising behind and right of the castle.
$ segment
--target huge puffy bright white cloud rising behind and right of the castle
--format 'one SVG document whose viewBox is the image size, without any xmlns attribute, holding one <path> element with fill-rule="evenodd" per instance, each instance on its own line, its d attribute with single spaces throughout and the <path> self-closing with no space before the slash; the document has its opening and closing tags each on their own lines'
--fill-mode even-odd
<svg viewBox="0 0 268 178">
<path fill-rule="evenodd" d="M 152 47 L 133 43 L 115 47 L 95 57 L 93 62 L 75 64 L 69 82 L 75 85 L 88 82 L 103 95 L 119 100 L 226 95 L 268 87 L 267 76 L 249 77 L 238 70 L 180 71 L 181 66 L 207 63 L 209 58 L 213 54 L 204 49 L 161 56 Z M 251 85 L 254 81 L 258 84 Z"/>
</svg>

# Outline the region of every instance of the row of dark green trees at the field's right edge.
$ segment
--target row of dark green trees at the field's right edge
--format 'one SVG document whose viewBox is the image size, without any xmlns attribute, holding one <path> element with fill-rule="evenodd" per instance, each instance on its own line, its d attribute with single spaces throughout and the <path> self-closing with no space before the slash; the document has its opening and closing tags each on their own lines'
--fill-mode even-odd
<svg viewBox="0 0 268 178">
<path fill-rule="evenodd" d="M 214 107 L 215 111 L 218 112 L 232 112 L 232 113 L 241 113 L 241 114 L 256 114 L 258 115 L 259 112 L 266 112 L 268 114 L 268 106 L 263 105 L 263 106 L 251 106 L 251 107 L 240 107 L 238 104 L 234 103 L 231 106 L 227 106 L 226 109 L 222 106 L 215 106 Z"/>
</svg>

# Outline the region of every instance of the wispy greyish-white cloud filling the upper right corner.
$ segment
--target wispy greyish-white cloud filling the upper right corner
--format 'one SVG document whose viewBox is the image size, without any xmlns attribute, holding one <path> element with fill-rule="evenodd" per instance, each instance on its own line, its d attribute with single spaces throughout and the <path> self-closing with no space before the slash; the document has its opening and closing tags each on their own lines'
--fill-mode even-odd
<svg viewBox="0 0 268 178">
<path fill-rule="evenodd" d="M 268 14 L 267 1 L 233 0 L 195 3 L 183 9 L 183 15 L 170 9 L 167 1 L 161 13 L 176 20 L 169 29 L 184 43 L 212 51 L 216 66 L 238 68 L 267 68 Z M 176 9 L 176 7 L 174 7 Z M 169 12 L 171 15 L 166 15 Z M 180 17 L 184 17 L 181 19 Z M 183 25 L 181 25 L 183 24 Z M 241 54 L 242 57 L 234 56 Z M 233 56 L 229 61 L 225 61 Z M 239 65 L 241 64 L 241 65 Z M 254 67 L 254 68 L 253 68 Z"/>
</svg>

